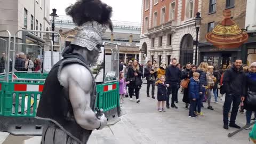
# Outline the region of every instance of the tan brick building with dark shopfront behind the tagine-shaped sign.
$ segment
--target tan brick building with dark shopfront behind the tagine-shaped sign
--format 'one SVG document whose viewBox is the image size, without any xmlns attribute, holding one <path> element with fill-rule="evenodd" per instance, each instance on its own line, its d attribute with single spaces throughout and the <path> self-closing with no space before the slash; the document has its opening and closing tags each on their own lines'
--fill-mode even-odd
<svg viewBox="0 0 256 144">
<path fill-rule="evenodd" d="M 202 1 L 201 26 L 200 26 L 200 41 L 199 55 L 200 61 L 206 61 L 209 65 L 228 66 L 237 58 L 241 58 L 241 47 L 234 49 L 217 49 L 212 44 L 206 41 L 206 34 L 211 31 L 223 19 L 223 10 L 230 9 L 231 19 L 236 24 L 244 29 L 246 0 L 209 0 Z"/>
</svg>

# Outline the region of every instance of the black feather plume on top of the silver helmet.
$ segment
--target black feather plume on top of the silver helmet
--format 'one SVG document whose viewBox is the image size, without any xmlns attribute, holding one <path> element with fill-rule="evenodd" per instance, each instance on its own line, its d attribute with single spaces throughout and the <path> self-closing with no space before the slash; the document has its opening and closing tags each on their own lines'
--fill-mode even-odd
<svg viewBox="0 0 256 144">
<path fill-rule="evenodd" d="M 66 8 L 66 14 L 73 18 L 77 26 L 82 26 L 88 21 L 97 21 L 113 31 L 113 24 L 110 20 L 112 7 L 100 0 L 78 0 L 74 5 Z"/>
</svg>

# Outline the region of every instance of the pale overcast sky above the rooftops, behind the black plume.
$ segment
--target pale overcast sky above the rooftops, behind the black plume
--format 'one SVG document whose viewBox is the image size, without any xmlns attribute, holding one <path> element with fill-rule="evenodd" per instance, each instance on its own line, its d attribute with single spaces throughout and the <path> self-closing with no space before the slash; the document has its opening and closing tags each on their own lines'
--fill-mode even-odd
<svg viewBox="0 0 256 144">
<path fill-rule="evenodd" d="M 141 0 L 101 0 L 113 7 L 112 20 L 141 22 Z M 51 0 L 51 11 L 57 9 L 58 15 L 66 15 L 65 9 L 76 0 Z"/>
</svg>

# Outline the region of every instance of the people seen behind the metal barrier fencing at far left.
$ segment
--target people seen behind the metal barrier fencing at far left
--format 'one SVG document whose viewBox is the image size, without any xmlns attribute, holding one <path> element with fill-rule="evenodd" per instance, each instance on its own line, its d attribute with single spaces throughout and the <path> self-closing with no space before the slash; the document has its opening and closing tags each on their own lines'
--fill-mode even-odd
<svg viewBox="0 0 256 144">
<path fill-rule="evenodd" d="M 12 70 L 12 60 L 10 59 L 10 71 Z M 6 53 L 2 53 L 2 58 L 0 59 L 0 73 L 5 72 L 6 65 Z M 14 69 L 17 71 L 40 71 L 41 70 L 41 61 L 36 58 L 32 61 L 29 55 L 24 54 L 23 52 L 17 53 L 15 58 Z"/>
</svg>

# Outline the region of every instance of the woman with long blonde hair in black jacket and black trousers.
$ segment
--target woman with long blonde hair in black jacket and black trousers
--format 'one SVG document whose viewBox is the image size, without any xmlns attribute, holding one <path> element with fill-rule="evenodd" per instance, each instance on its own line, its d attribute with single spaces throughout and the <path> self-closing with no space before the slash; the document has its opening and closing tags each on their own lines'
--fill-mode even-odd
<svg viewBox="0 0 256 144">
<path fill-rule="evenodd" d="M 138 61 L 137 60 L 133 60 L 132 62 L 132 66 L 129 67 L 128 71 L 127 71 L 127 78 L 126 81 L 130 82 L 128 84 L 129 86 L 129 95 L 130 95 L 130 101 L 132 101 L 132 95 L 133 92 L 135 90 L 135 96 L 136 96 L 136 100 L 137 103 L 140 102 L 139 100 L 139 92 L 140 92 L 140 88 L 142 85 L 142 71 L 139 67 Z"/>
</svg>

